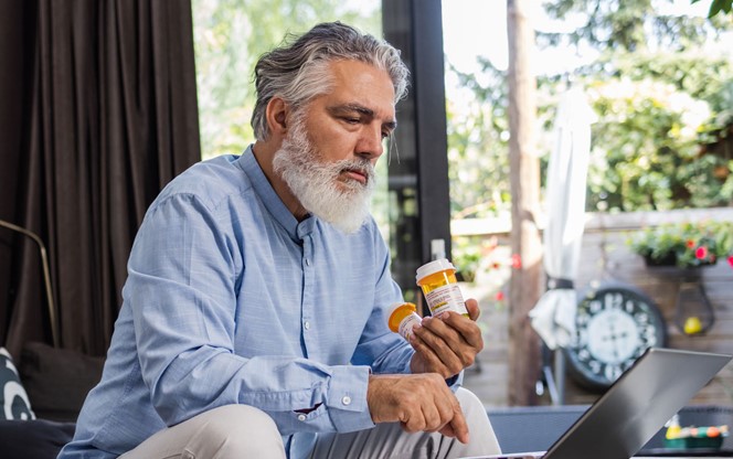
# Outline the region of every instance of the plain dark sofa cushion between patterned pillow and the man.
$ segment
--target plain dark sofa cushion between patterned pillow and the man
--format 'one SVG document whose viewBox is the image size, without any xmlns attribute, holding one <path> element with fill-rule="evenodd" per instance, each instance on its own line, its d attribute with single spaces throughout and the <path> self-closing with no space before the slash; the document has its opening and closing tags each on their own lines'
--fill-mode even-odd
<svg viewBox="0 0 733 459">
<path fill-rule="evenodd" d="M 30 342 L 23 346 L 19 370 L 39 418 L 73 421 L 103 366 L 104 357 Z"/>
</svg>

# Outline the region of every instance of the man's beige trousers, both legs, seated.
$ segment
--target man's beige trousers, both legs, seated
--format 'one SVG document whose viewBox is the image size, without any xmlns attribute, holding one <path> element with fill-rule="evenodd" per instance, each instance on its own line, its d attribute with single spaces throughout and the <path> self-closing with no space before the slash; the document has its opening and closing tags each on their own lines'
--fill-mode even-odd
<svg viewBox="0 0 733 459">
<path fill-rule="evenodd" d="M 312 459 L 448 459 L 500 453 L 481 402 L 459 388 L 470 442 L 440 434 L 407 434 L 400 424 L 380 424 L 348 434 L 321 434 Z M 161 430 L 121 459 L 269 459 L 285 458 L 283 438 L 273 419 L 247 405 L 227 405 Z"/>
</svg>

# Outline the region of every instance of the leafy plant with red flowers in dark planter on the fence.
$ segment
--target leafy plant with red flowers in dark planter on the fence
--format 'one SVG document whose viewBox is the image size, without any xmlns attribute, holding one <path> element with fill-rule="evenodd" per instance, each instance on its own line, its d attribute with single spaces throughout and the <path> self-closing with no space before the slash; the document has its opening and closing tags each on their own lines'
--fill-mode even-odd
<svg viewBox="0 0 733 459">
<path fill-rule="evenodd" d="M 733 222 L 666 223 L 637 232 L 628 244 L 647 266 L 697 268 L 723 258 L 733 267 Z"/>
</svg>

